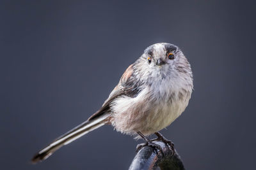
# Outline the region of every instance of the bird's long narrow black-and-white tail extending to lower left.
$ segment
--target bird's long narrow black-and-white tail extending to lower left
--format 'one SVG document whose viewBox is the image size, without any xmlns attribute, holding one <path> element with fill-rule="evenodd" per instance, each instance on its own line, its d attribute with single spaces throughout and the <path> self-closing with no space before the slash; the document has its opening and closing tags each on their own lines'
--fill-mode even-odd
<svg viewBox="0 0 256 170">
<path fill-rule="evenodd" d="M 40 150 L 40 152 L 36 153 L 36 155 L 31 160 L 33 163 L 36 163 L 40 160 L 47 159 L 52 153 L 54 153 L 56 150 L 60 149 L 61 146 L 67 145 L 68 143 L 80 138 L 84 134 L 93 131 L 94 129 L 97 129 L 101 127 L 102 125 L 106 124 L 106 119 L 109 117 L 108 113 L 105 113 L 101 115 L 100 117 L 97 117 L 93 120 L 86 120 L 86 122 L 83 122 L 83 124 L 78 125 L 71 131 L 68 131 L 67 133 L 60 136 L 58 139 L 53 141 L 51 144 L 49 144 L 44 149 Z"/>
</svg>

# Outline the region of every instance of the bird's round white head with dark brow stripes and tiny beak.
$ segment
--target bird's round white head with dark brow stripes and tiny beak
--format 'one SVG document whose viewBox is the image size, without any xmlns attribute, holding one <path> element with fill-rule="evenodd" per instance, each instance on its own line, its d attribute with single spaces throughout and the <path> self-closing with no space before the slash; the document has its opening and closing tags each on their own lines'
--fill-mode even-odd
<svg viewBox="0 0 256 170">
<path fill-rule="evenodd" d="M 188 60 L 179 47 L 170 43 L 148 46 L 136 61 L 136 69 L 144 80 L 150 78 L 159 80 L 173 76 L 192 77 Z"/>
</svg>

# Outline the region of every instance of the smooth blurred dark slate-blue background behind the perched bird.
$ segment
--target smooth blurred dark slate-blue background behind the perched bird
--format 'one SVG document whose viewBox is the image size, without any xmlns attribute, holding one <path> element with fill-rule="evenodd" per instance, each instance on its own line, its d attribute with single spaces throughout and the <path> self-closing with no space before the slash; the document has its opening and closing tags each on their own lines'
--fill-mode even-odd
<svg viewBox="0 0 256 170">
<path fill-rule="evenodd" d="M 191 63 L 189 106 L 161 132 L 187 169 L 255 168 L 254 1 L 1 1 L 1 169 L 128 169 L 130 136 L 102 127 L 31 157 L 97 111 L 154 43 Z"/>
</svg>

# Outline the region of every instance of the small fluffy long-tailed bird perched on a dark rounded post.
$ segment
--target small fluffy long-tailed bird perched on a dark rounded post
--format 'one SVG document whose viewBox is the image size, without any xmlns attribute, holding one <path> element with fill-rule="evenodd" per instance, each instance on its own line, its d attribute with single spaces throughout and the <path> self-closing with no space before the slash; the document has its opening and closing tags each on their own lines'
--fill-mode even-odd
<svg viewBox="0 0 256 170">
<path fill-rule="evenodd" d="M 159 133 L 181 115 L 191 99 L 193 73 L 184 53 L 176 45 L 156 43 L 148 46 L 127 69 L 102 107 L 85 122 L 55 139 L 35 154 L 32 162 L 47 159 L 52 153 L 103 125 L 134 138 L 142 138 L 148 145 L 161 140 L 173 143 Z M 156 134 L 156 139 L 148 136 Z"/>
</svg>

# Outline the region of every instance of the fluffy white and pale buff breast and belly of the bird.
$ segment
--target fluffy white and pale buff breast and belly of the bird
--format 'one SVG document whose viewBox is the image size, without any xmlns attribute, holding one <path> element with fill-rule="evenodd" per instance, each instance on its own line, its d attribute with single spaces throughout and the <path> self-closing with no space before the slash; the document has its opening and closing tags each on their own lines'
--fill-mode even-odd
<svg viewBox="0 0 256 170">
<path fill-rule="evenodd" d="M 140 131 L 144 135 L 150 135 L 160 131 L 179 117 L 188 106 L 191 92 L 184 94 L 184 85 L 179 78 L 175 83 L 166 78 L 145 87 L 134 98 L 119 97 L 112 104 L 112 125 L 125 134 Z"/>
</svg>

